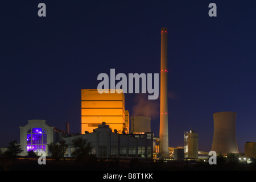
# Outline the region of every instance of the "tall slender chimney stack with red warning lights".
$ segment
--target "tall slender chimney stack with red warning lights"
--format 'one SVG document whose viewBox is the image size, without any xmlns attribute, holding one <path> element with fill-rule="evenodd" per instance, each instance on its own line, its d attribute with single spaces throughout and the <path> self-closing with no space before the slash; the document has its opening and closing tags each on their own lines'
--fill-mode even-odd
<svg viewBox="0 0 256 182">
<path fill-rule="evenodd" d="M 161 28 L 161 70 L 160 70 L 160 143 L 159 154 L 169 154 L 168 103 L 167 103 L 167 28 Z"/>
</svg>

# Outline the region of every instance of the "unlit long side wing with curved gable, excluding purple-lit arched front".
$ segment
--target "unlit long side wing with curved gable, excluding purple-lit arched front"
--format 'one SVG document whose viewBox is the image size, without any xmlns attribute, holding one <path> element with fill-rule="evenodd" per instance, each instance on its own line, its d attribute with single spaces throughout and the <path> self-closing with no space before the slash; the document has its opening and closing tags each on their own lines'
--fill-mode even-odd
<svg viewBox="0 0 256 182">
<path fill-rule="evenodd" d="M 95 154 L 97 157 L 152 158 L 153 135 L 151 132 L 137 135 L 113 133 L 109 125 L 103 122 L 101 125 L 98 125 L 98 128 L 93 133 L 68 137 L 63 140 L 69 144 L 66 156 L 72 156 L 72 140 L 82 137 L 90 142 L 90 146 L 93 147 L 92 154 Z"/>
</svg>

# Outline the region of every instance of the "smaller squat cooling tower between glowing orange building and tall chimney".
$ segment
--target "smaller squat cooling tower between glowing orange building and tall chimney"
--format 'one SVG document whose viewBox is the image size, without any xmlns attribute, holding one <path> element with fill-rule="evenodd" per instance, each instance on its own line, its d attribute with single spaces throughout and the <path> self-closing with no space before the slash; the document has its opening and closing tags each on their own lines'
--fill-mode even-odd
<svg viewBox="0 0 256 182">
<path fill-rule="evenodd" d="M 131 133 L 151 132 L 151 117 L 131 117 Z"/>
</svg>

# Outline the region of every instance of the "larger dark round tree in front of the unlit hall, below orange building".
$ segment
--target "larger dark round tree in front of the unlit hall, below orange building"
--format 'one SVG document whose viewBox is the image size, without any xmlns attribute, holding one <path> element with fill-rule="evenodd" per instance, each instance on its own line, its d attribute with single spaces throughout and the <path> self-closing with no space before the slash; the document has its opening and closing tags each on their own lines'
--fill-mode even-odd
<svg viewBox="0 0 256 182">
<path fill-rule="evenodd" d="M 92 157 L 92 155 L 90 155 L 92 152 L 92 146 L 90 146 L 90 142 L 87 142 L 87 139 L 83 139 L 82 137 L 73 139 L 72 147 L 75 148 L 72 152 L 72 156 L 76 157 L 77 160 L 85 161 Z"/>
</svg>

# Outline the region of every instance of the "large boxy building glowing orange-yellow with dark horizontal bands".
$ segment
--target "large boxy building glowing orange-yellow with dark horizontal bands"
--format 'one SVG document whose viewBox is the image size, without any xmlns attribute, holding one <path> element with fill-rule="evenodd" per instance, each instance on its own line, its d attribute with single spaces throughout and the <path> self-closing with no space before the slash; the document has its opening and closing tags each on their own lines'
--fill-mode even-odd
<svg viewBox="0 0 256 182">
<path fill-rule="evenodd" d="M 126 114 L 125 114 L 126 113 Z M 123 93 L 98 93 L 97 89 L 81 90 L 81 133 L 92 133 L 105 122 L 117 133 L 129 133 L 129 112 L 125 111 Z M 127 123 L 128 122 L 128 123 Z"/>
</svg>

